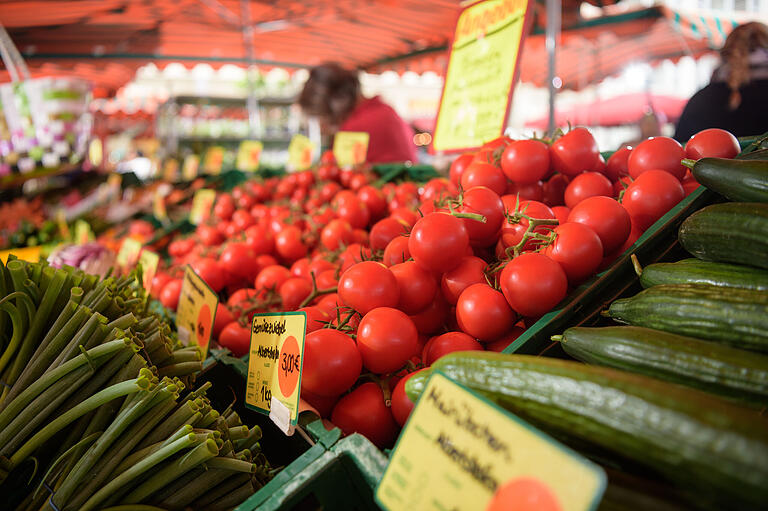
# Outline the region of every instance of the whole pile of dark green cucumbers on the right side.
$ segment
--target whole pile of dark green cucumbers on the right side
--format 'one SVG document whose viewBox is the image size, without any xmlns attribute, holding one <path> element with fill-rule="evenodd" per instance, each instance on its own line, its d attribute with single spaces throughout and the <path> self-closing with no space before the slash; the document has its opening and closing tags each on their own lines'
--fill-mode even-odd
<svg viewBox="0 0 768 511">
<path fill-rule="evenodd" d="M 686 506 L 765 509 L 768 193 L 743 195 L 768 191 L 768 161 L 750 162 L 748 182 L 716 163 L 721 173 L 708 187 L 760 202 L 715 204 L 687 218 L 679 240 L 695 259 L 642 269 L 646 289 L 606 311 L 629 326 L 556 336 L 586 364 L 453 353 L 411 377 L 409 396 L 439 370 L 583 452 L 650 469 Z"/>
</svg>

